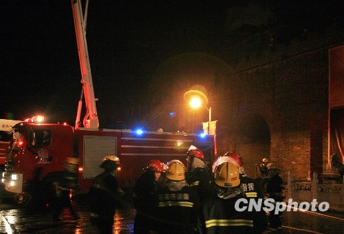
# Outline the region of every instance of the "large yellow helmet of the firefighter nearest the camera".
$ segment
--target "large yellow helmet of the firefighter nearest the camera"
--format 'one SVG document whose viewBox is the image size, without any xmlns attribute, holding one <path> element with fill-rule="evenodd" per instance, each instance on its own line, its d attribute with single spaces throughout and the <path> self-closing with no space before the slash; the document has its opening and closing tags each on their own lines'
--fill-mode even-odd
<svg viewBox="0 0 344 234">
<path fill-rule="evenodd" d="M 230 162 L 219 164 L 214 171 L 214 182 L 220 187 L 237 187 L 240 184 L 239 168 Z"/>
</svg>

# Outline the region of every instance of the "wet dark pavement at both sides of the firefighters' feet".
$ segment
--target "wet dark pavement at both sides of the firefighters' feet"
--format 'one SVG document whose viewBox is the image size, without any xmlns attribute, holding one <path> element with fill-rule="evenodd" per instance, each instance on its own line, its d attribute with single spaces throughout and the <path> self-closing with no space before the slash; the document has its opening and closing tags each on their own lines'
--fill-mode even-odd
<svg viewBox="0 0 344 234">
<path fill-rule="evenodd" d="M 1 189 L 1 188 L 0 188 Z M 63 220 L 52 221 L 49 207 L 33 205 L 18 208 L 8 197 L 0 204 L 0 233 L 98 233 L 89 219 L 87 196 L 73 201 L 80 219 L 74 220 L 69 209 L 63 211 Z M 1 199 L 1 194 L 0 194 Z M 114 233 L 133 233 L 135 209 L 128 203 L 127 209 L 116 211 Z M 284 212 L 282 233 L 344 233 L 344 212 L 314 213 Z M 267 233 L 267 232 L 266 232 Z"/>
</svg>

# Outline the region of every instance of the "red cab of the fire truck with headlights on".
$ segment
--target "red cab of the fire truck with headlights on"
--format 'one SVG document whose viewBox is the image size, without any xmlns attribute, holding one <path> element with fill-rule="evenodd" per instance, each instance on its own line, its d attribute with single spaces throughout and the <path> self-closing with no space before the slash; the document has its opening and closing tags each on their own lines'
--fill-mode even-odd
<svg viewBox="0 0 344 234">
<path fill-rule="evenodd" d="M 39 182 L 58 180 L 66 158 L 73 156 L 73 128 L 45 124 L 39 120 L 12 127 L 13 137 L 6 154 L 2 181 L 6 191 L 17 194 L 17 203 L 26 202 Z"/>
</svg>

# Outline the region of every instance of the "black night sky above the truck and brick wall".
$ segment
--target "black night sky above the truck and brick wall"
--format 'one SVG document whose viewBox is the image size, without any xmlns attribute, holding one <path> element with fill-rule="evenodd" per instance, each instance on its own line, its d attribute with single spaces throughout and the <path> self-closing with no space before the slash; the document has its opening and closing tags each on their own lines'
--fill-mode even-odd
<svg viewBox="0 0 344 234">
<path fill-rule="evenodd" d="M 149 101 L 151 77 L 173 56 L 221 56 L 217 40 L 243 24 L 297 24 L 304 17 L 311 29 L 340 12 L 329 1 L 256 2 L 89 0 L 87 45 L 100 127 L 129 122 L 129 109 Z M 71 2 L 2 0 L 0 22 L 0 118 L 43 114 L 74 126 L 81 83 Z"/>
</svg>

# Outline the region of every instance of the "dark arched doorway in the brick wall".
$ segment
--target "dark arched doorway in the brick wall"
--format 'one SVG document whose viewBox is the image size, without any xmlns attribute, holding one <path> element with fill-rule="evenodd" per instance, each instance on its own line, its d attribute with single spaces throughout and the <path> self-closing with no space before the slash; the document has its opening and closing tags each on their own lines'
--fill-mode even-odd
<svg viewBox="0 0 344 234">
<path fill-rule="evenodd" d="M 270 129 L 263 116 L 248 115 L 241 119 L 236 134 L 237 153 L 243 157 L 249 177 L 256 178 L 255 165 L 270 158 Z"/>
</svg>

